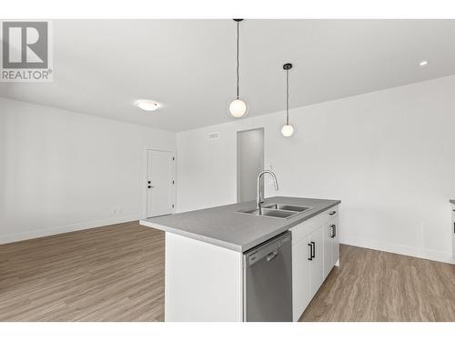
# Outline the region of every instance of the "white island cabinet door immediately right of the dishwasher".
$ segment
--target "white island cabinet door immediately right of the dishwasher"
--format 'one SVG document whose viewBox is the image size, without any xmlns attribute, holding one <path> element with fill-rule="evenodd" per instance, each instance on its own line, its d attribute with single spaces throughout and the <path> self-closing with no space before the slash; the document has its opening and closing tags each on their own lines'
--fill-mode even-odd
<svg viewBox="0 0 455 341">
<path fill-rule="evenodd" d="M 309 237 L 292 246 L 292 318 L 298 321 L 309 303 Z"/>
</svg>

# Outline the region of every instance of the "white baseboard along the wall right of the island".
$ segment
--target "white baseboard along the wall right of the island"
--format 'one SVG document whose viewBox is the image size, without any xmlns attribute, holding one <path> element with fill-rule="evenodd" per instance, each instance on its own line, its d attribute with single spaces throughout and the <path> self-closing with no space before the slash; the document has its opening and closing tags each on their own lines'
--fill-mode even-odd
<svg viewBox="0 0 455 341">
<path fill-rule="evenodd" d="M 413 256 L 423 259 L 434 260 L 437 262 L 455 264 L 455 259 L 450 253 L 430 250 L 416 246 L 404 246 L 400 244 L 391 244 L 370 239 L 360 239 L 353 236 L 340 236 L 339 243 L 349 246 L 359 246 L 373 250 L 390 252 L 404 256 Z"/>
</svg>

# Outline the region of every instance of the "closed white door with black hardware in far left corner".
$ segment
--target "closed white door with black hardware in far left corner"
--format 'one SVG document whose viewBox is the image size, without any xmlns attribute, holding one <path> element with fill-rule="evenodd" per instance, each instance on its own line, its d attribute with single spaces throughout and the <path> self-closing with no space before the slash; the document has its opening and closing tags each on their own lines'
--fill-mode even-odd
<svg viewBox="0 0 455 341">
<path fill-rule="evenodd" d="M 147 217 L 172 213 L 175 160 L 173 152 L 147 150 Z"/>
</svg>

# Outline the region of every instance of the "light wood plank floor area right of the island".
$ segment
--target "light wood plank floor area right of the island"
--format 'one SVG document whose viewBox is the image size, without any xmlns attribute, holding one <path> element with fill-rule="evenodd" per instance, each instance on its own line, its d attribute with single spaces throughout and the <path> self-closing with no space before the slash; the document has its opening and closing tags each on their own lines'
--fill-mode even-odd
<svg viewBox="0 0 455 341">
<path fill-rule="evenodd" d="M 455 321 L 455 266 L 340 246 L 300 321 Z"/>
</svg>

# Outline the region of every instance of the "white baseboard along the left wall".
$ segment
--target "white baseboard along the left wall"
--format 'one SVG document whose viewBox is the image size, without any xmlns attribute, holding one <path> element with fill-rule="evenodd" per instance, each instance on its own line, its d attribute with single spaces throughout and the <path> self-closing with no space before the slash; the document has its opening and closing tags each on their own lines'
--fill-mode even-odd
<svg viewBox="0 0 455 341">
<path fill-rule="evenodd" d="M 59 235 L 66 232 L 74 232 L 80 230 L 86 230 L 88 228 L 100 227 L 100 226 L 107 226 L 107 225 L 114 225 L 120 223 L 126 223 L 133 220 L 139 220 L 143 218 L 143 216 L 121 216 L 112 219 L 105 219 L 105 220 L 96 220 L 92 222 L 86 223 L 79 223 L 69 226 L 59 226 L 59 227 L 52 227 L 52 228 L 40 228 L 37 230 L 32 231 L 25 231 L 17 234 L 10 234 L 10 235 L 0 235 L 0 245 L 6 243 L 13 243 L 19 242 L 21 240 L 26 239 L 34 239 L 39 238 L 41 236 L 53 236 Z"/>
</svg>

